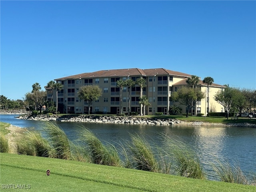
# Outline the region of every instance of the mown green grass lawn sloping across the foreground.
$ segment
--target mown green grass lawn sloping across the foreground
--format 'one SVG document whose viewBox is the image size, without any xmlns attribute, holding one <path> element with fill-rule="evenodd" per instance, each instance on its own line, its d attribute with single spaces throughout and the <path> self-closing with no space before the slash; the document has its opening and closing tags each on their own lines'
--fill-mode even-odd
<svg viewBox="0 0 256 192">
<path fill-rule="evenodd" d="M 46 170 L 50 170 L 50 176 Z M 0 188 L 36 192 L 255 192 L 255 186 L 190 179 L 78 161 L 0 153 Z M 5 188 L 5 189 L 4 189 Z"/>
</svg>

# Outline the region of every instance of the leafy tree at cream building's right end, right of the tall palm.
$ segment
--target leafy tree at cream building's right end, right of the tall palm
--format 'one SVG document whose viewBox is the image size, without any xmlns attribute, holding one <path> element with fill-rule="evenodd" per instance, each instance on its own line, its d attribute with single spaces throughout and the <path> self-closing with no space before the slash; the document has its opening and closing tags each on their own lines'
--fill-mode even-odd
<svg viewBox="0 0 256 192">
<path fill-rule="evenodd" d="M 227 112 L 227 119 L 229 116 L 230 109 L 232 108 L 232 106 L 234 106 L 234 100 L 236 95 L 237 94 L 234 88 L 228 86 L 224 90 L 219 90 L 214 96 L 214 100 L 221 104 L 224 107 L 225 111 Z"/>
</svg>

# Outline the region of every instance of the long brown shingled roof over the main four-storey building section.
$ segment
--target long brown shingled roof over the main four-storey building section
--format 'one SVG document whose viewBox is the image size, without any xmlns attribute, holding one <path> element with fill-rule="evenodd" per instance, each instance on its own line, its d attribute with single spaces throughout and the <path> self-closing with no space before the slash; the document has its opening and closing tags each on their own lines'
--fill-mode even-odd
<svg viewBox="0 0 256 192">
<path fill-rule="evenodd" d="M 130 69 L 112 69 L 112 70 L 100 70 L 96 72 L 82 73 L 67 77 L 58 78 L 55 80 L 66 80 L 66 79 L 79 79 L 79 78 L 97 78 L 97 77 L 111 77 L 111 76 L 154 76 L 154 75 L 173 75 L 173 76 L 183 76 L 190 77 L 191 75 L 172 71 L 164 68 L 155 68 L 155 69 L 139 69 L 139 68 L 130 68 Z"/>
</svg>

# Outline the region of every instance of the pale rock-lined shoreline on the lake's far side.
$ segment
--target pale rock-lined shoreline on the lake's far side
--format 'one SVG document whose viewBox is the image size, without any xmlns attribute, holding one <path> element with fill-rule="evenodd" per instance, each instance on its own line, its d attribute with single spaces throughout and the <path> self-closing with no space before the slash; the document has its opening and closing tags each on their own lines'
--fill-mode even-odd
<svg viewBox="0 0 256 192">
<path fill-rule="evenodd" d="M 136 116 L 87 116 L 87 115 L 38 115 L 35 117 L 29 114 L 20 115 L 17 118 L 26 120 L 40 121 L 61 121 L 61 122 L 89 122 L 89 123 L 108 123 L 108 124 L 140 124 L 140 125 L 163 125 L 163 126 L 230 126 L 230 127 L 255 127 L 256 124 L 249 123 L 210 123 L 210 122 L 188 122 L 177 119 L 158 119 L 158 118 L 142 118 Z"/>
</svg>

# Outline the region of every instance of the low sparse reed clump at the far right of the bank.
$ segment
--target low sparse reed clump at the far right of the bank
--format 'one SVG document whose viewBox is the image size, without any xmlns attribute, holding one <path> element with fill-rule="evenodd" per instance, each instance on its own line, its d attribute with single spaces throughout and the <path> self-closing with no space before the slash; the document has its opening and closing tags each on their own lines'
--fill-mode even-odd
<svg viewBox="0 0 256 192">
<path fill-rule="evenodd" d="M 218 160 L 215 164 L 211 163 L 211 165 L 220 181 L 247 185 L 253 185 L 255 182 L 255 180 L 251 181 L 244 175 L 238 164 L 231 165 L 228 160 Z"/>
</svg>

